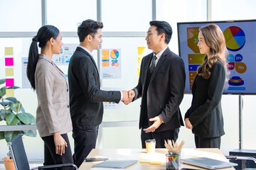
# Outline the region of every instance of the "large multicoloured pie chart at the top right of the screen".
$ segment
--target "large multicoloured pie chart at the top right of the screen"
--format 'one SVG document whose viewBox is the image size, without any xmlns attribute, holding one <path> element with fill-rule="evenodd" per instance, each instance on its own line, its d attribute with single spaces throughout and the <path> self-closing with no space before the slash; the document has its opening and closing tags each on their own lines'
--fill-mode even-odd
<svg viewBox="0 0 256 170">
<path fill-rule="evenodd" d="M 223 32 L 226 40 L 226 45 L 230 51 L 241 50 L 245 45 L 245 33 L 237 26 L 230 26 Z"/>
</svg>

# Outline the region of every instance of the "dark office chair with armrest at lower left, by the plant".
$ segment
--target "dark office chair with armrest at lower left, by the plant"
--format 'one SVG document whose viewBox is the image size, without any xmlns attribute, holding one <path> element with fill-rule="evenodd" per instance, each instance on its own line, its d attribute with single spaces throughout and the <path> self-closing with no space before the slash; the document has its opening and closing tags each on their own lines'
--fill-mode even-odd
<svg viewBox="0 0 256 170">
<path fill-rule="evenodd" d="M 7 146 L 11 151 L 11 158 L 14 159 L 14 166 L 16 170 L 29 170 L 28 158 L 26 157 L 26 152 L 21 139 L 21 134 L 14 137 L 11 142 L 8 142 Z M 50 168 L 60 168 L 60 167 L 73 167 L 78 169 L 75 164 L 55 164 L 48 166 L 38 166 L 34 169 L 50 169 Z"/>
</svg>

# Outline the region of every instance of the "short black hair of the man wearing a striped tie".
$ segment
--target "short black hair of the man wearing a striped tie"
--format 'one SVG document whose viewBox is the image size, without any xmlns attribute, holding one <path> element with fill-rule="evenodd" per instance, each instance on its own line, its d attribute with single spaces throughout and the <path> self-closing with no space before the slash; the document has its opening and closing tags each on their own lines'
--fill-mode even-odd
<svg viewBox="0 0 256 170">
<path fill-rule="evenodd" d="M 150 21 L 149 24 L 150 26 L 156 26 L 158 35 L 164 33 L 166 38 L 165 42 L 166 44 L 169 44 L 172 35 L 172 29 L 170 24 L 166 21 Z"/>
</svg>

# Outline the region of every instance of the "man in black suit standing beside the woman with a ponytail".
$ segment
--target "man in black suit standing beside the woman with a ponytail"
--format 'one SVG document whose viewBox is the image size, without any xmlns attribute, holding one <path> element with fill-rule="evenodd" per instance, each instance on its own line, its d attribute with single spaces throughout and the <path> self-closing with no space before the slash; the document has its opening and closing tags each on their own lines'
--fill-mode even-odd
<svg viewBox="0 0 256 170">
<path fill-rule="evenodd" d="M 74 163 L 79 167 L 95 148 L 97 131 L 102 122 L 102 101 L 119 103 L 127 99 L 127 91 L 100 90 L 100 77 L 92 50 L 102 42 L 101 22 L 86 20 L 78 27 L 80 45 L 71 57 L 68 67 L 70 87 L 70 114 L 75 140 Z"/>
</svg>

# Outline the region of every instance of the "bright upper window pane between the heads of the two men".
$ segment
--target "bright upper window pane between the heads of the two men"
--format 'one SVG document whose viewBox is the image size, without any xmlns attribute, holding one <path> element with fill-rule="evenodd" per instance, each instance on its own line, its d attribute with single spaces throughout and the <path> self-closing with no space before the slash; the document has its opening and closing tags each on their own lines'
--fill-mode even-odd
<svg viewBox="0 0 256 170">
<path fill-rule="evenodd" d="M 149 0 L 102 0 L 103 31 L 145 31 L 152 18 Z"/>
</svg>

